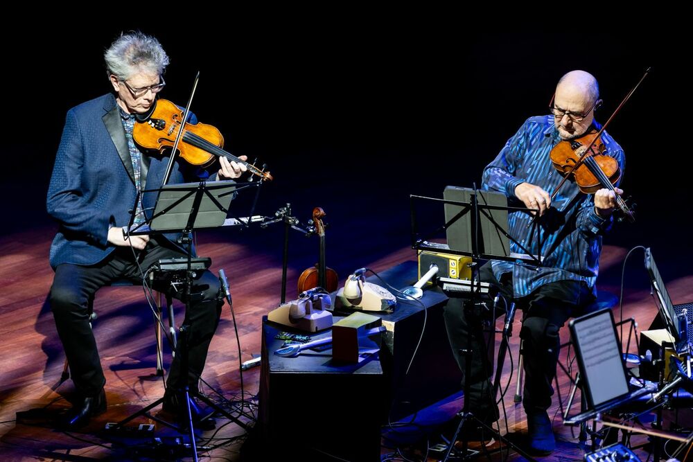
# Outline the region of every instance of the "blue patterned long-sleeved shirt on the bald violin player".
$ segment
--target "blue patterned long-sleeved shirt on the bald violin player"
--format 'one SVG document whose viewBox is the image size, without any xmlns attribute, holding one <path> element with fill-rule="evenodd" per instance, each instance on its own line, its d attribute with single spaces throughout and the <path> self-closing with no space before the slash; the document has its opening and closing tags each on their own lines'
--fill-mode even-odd
<svg viewBox="0 0 693 462">
<path fill-rule="evenodd" d="M 595 125 L 598 124 L 595 122 Z M 505 193 L 509 205 L 524 206 L 515 196 L 515 188 L 523 183 L 541 186 L 549 195 L 554 193 L 563 177 L 554 168 L 550 152 L 561 141 L 554 127 L 554 116 L 528 118 L 520 130 L 505 144 L 498 157 L 489 163 L 482 175 L 482 188 Z M 625 157 L 622 148 L 606 132 L 602 134 L 606 153 L 614 157 L 623 174 Z M 584 281 L 595 290 L 602 253 L 602 234 L 611 227 L 613 217 L 606 219 L 595 212 L 594 195 L 580 193 L 574 181 L 567 180 L 552 199 L 551 208 L 561 211 L 557 220 L 546 213 L 538 226 L 527 226 L 531 215 L 512 212 L 508 216 L 509 232 L 529 253 L 536 255 L 541 246 L 543 265 L 538 268 L 505 261 L 493 261 L 493 274 L 512 272 L 514 296 L 527 296 L 538 287 L 554 281 Z M 550 222 L 550 223 L 547 223 Z M 527 247 L 531 243 L 532 247 Z M 527 254 L 514 242 L 510 251 Z"/>
</svg>

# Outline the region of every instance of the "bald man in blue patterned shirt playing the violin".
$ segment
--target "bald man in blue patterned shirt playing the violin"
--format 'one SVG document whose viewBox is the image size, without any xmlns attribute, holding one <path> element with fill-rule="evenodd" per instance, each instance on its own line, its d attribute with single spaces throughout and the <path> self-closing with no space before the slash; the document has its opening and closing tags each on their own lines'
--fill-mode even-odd
<svg viewBox="0 0 693 462">
<path fill-rule="evenodd" d="M 597 80 L 584 71 L 569 72 L 559 80 L 547 116 L 530 117 L 507 141 L 500 154 L 484 169 L 482 187 L 505 193 L 510 206 L 538 209 L 541 255 L 539 269 L 505 261 L 491 261 L 479 270 L 482 281 L 498 287 L 507 301 L 524 312 L 520 338 L 523 339 L 525 389 L 523 405 L 529 427 L 529 450 L 550 454 L 556 442 L 547 409 L 554 393 L 552 381 L 559 357 L 559 329 L 580 308 L 595 300 L 595 281 L 602 251 L 602 235 L 611 227 L 619 188 L 581 193 L 574 181 L 567 181 L 551 199 L 563 177 L 550 159 L 554 146 L 577 139 L 593 127 L 599 128 L 594 112 L 602 104 Z M 606 154 L 616 159 L 621 172 L 624 153 L 606 132 L 602 134 Z M 509 214 L 509 231 L 529 252 L 511 244 L 511 251 L 536 255 L 537 240 L 529 226 L 533 213 Z M 468 328 L 461 303 L 451 299 L 446 308 L 448 335 L 457 362 L 465 371 L 461 348 L 467 347 L 471 332 L 472 350 L 483 351 L 480 332 Z M 472 323 L 472 326 L 475 324 Z M 475 415 L 486 423 L 498 419 L 489 377 L 493 367 L 484 354 L 472 356 L 470 381 Z M 469 421 L 471 422 L 471 420 Z M 471 431 L 478 429 L 471 428 Z"/>
</svg>

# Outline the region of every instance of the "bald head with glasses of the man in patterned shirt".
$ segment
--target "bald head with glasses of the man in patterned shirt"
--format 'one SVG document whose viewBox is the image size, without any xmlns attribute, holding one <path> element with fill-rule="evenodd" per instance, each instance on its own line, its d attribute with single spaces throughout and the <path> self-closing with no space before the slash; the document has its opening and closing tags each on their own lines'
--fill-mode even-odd
<svg viewBox="0 0 693 462">
<path fill-rule="evenodd" d="M 584 134 L 594 121 L 595 105 L 599 100 L 599 85 L 594 75 L 585 71 L 570 71 L 556 85 L 554 124 L 563 139 Z M 563 115 L 565 114 L 565 115 Z M 575 120 L 575 119 L 579 120 Z"/>
</svg>

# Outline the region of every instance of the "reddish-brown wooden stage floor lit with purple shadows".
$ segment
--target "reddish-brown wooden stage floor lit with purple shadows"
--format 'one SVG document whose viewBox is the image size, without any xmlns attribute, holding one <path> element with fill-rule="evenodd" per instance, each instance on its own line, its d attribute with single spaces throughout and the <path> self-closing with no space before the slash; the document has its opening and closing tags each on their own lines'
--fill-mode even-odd
<svg viewBox="0 0 693 462">
<path fill-rule="evenodd" d="M 36 226 L 24 233 L 15 233 L 0 238 L 0 459 L 3 461 L 91 461 L 91 460 L 130 460 L 137 459 L 117 438 L 100 433 L 105 423 L 119 420 L 141 407 L 156 400 L 163 393 L 161 378 L 153 376 L 155 368 L 155 345 L 153 322 L 150 308 L 144 302 L 140 287 L 107 287 L 96 296 L 95 310 L 98 319 L 94 331 L 107 378 L 108 411 L 94 419 L 85 429 L 74 434 L 66 434 L 51 429 L 45 423 L 24 425 L 15 422 L 17 411 L 28 409 L 49 409 L 51 411 L 67 407 L 66 398 L 71 396 L 71 382 L 60 383 L 64 356 L 53 324 L 53 317 L 46 296 L 51 287 L 53 272 L 48 265 L 48 251 L 55 229 L 51 224 Z M 262 237 L 246 234 L 200 233 L 199 253 L 213 259 L 213 267 L 225 268 L 231 292 L 234 297 L 238 335 L 240 337 L 240 360 L 252 359 L 260 353 L 261 318 L 279 303 L 281 288 L 281 241 L 271 243 Z M 380 237 L 380 243 L 387 240 Z M 271 245 L 270 245 L 271 244 Z M 378 243 L 371 245 L 377 247 Z M 376 271 L 392 267 L 404 260 L 415 258 L 414 252 L 407 248 L 389 251 L 383 244 L 383 251 L 373 251 L 372 259 L 364 251 L 352 251 L 347 245 L 333 244 L 333 258 L 340 258 L 342 267 L 368 266 Z M 298 251 L 301 251 L 299 249 Z M 602 272 L 611 274 L 599 288 L 618 294 L 620 287 L 620 265 L 626 253 L 620 247 L 606 247 L 602 256 Z M 293 255 L 293 254 L 292 254 Z M 306 257 L 308 259 L 312 257 Z M 305 260 L 305 258 L 304 258 Z M 299 263 L 304 263 L 299 259 Z M 665 265 L 666 262 L 658 262 Z M 288 272 L 288 299 L 296 296 L 295 281 L 300 265 L 290 265 Z M 341 274 L 342 281 L 346 274 Z M 674 303 L 693 300 L 693 276 L 685 275 L 667 283 Z M 624 317 L 638 321 L 640 330 L 651 323 L 656 308 L 649 296 L 647 285 L 626 287 L 624 296 Z M 182 305 L 176 304 L 178 319 L 182 319 Z M 618 317 L 618 312 L 616 312 Z M 519 318 L 518 318 L 519 319 Z M 514 331 L 518 332 L 516 320 Z M 568 340 L 567 329 L 561 331 L 561 339 Z M 512 338 L 511 350 L 516 355 L 517 337 Z M 634 351 L 634 349 L 632 349 Z M 168 363 L 169 355 L 166 354 Z M 516 359 L 516 356 L 515 356 Z M 565 361 L 565 351 L 562 353 Z M 239 352 L 236 346 L 236 333 L 228 307 L 222 314 L 222 321 L 213 339 L 204 380 L 211 388 L 220 391 L 227 398 L 238 399 L 240 392 Z M 565 400 L 568 379 L 562 373 L 559 380 L 561 395 Z M 258 391 L 259 368 L 243 374 L 245 398 L 250 405 L 245 408 L 248 414 L 254 412 L 254 398 Z M 435 377 L 432 377 L 435 380 Z M 509 380 L 509 364 L 503 383 Z M 514 382 L 505 397 L 507 417 L 501 421 L 509 432 L 522 434 L 526 421 L 519 405 L 513 402 Z M 552 415 L 557 411 L 557 398 L 554 398 Z M 441 404 L 437 416 L 450 416 L 461 407 L 461 400 L 453 399 Z M 435 412 L 434 412 L 435 414 Z M 247 418 L 242 418 L 246 421 Z M 142 420 L 143 422 L 146 420 Z M 220 424 L 225 423 L 220 420 Z M 200 434 L 202 443 L 211 447 L 225 444 L 204 452 L 205 460 L 241 460 L 240 451 L 245 437 L 243 429 L 233 423 L 220 425 L 218 432 Z M 430 427 L 433 428 L 433 427 Z M 419 427 L 420 431 L 421 427 Z M 563 427 L 559 419 L 554 420 L 554 429 L 559 434 L 559 450 L 550 460 L 579 460 L 584 454 L 577 444 L 576 434 Z M 157 436 L 174 437 L 173 431 L 157 427 Z M 435 443 L 435 432 L 428 435 L 430 443 Z M 234 437 L 238 437 L 234 439 Z M 401 448 L 403 456 L 421 458 L 426 445 L 426 434 L 412 435 L 412 446 Z M 384 441 L 383 454 L 396 454 L 392 441 Z M 200 441 L 198 441 L 200 443 Z M 125 441 L 126 445 L 132 445 Z M 415 450 L 412 450 L 416 448 Z M 132 450 L 132 447 L 130 447 Z M 130 454 L 130 455 L 128 455 Z M 643 459 L 646 452 L 640 452 Z M 139 457 L 147 460 L 148 454 L 141 452 Z M 500 455 L 491 456 L 500 460 Z M 395 458 L 396 459 L 396 458 Z M 518 460 L 519 456 L 511 456 Z M 308 460 L 308 459 L 306 459 Z M 404 459 L 399 459 L 404 460 Z M 413 460 L 413 459 L 412 459 Z M 420 459 L 418 459 L 420 460 Z M 434 460 L 434 459 L 430 459 Z"/>
</svg>

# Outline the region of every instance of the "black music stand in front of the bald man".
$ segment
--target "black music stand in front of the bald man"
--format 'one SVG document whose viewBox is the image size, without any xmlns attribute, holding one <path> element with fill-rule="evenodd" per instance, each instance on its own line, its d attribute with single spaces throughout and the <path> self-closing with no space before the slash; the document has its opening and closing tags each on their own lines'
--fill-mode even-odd
<svg viewBox="0 0 693 462">
<path fill-rule="evenodd" d="M 477 260 L 481 259 L 492 259 L 492 260 L 506 260 L 512 262 L 522 262 L 526 265 L 541 266 L 543 258 L 541 254 L 533 256 L 529 254 L 527 248 L 525 248 L 522 243 L 518 242 L 515 238 L 510 236 L 507 229 L 507 216 L 509 211 L 535 211 L 538 209 L 529 209 L 524 207 L 509 207 L 507 206 L 507 197 L 505 194 L 496 193 L 493 191 L 481 191 L 476 187 L 474 188 L 459 188 L 457 186 L 447 186 L 444 190 L 444 198 L 437 199 L 435 197 L 423 197 L 411 195 L 411 213 L 412 213 L 412 248 L 416 250 L 428 250 L 428 251 L 443 251 L 448 254 L 464 255 L 470 256 L 472 258 L 471 266 L 477 265 Z M 414 207 L 414 199 L 425 199 L 433 202 L 442 202 L 445 204 L 445 224 L 435 231 L 430 233 L 430 236 L 435 236 L 441 230 L 446 231 L 446 237 L 448 244 L 439 244 L 437 242 L 428 242 L 428 238 L 421 238 L 419 236 L 418 225 L 416 222 L 416 211 Z M 536 220 L 533 224 L 533 234 L 538 239 L 538 233 L 536 232 L 537 224 Z M 510 251 L 510 242 L 514 242 L 520 249 L 526 252 L 526 254 L 514 254 Z M 530 249 L 532 248 L 532 242 L 528 243 Z M 537 249 L 541 249 L 541 246 L 537 245 Z M 464 303 L 464 310 L 466 313 L 471 314 L 471 310 L 477 304 L 477 301 L 481 300 L 481 282 L 474 280 L 474 271 L 472 271 L 472 281 L 471 290 L 469 292 L 462 292 L 464 296 L 468 297 L 468 300 Z M 448 279 L 449 281 L 449 279 Z M 457 292 L 458 294 L 460 292 Z M 505 323 L 505 329 L 503 332 L 504 341 L 501 344 L 501 349 L 499 350 L 498 364 L 502 367 L 502 362 L 505 361 L 505 353 L 507 351 L 507 337 L 509 336 L 508 330 L 512 323 L 512 317 L 514 317 L 514 304 L 511 305 L 511 309 L 507 312 L 507 321 Z M 469 315 L 468 319 L 474 319 L 473 315 Z M 450 453 L 453 452 L 455 441 L 457 441 L 457 436 L 461 431 L 464 423 L 468 419 L 474 420 L 478 425 L 484 427 L 486 431 L 489 432 L 498 441 L 502 441 L 509 447 L 512 447 L 519 454 L 527 457 L 529 460 L 533 460 L 531 456 L 521 450 L 517 445 L 508 441 L 507 438 L 500 435 L 500 432 L 496 432 L 495 429 L 486 425 L 482 420 L 474 416 L 474 414 L 469 410 L 469 394 L 470 394 L 470 383 L 468 377 L 471 376 L 471 357 L 472 355 L 479 354 L 479 352 L 473 352 L 471 350 L 471 335 L 467 336 L 467 348 L 463 351 L 466 355 L 465 369 L 464 372 L 464 405 L 462 411 L 457 415 L 461 417 L 459 425 L 455 430 L 453 438 L 448 444 L 448 449 L 443 461 L 447 461 L 450 457 Z M 484 352 L 481 352 L 484 354 Z M 498 382 L 500 376 L 497 372 L 497 379 L 494 382 Z M 494 385 L 493 401 L 495 402 L 495 395 L 497 394 L 497 385 Z M 468 456 L 473 456 L 473 454 L 467 454 L 467 439 L 462 440 L 462 456 L 467 458 Z"/>
</svg>

